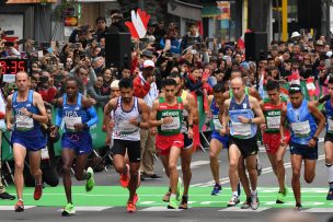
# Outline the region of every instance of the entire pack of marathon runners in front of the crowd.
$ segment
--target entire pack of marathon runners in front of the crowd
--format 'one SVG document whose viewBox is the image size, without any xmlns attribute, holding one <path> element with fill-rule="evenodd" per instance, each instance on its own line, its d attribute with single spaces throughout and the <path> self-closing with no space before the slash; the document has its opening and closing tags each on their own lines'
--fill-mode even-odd
<svg viewBox="0 0 333 222">
<path fill-rule="evenodd" d="M 35 177 L 34 199 L 42 197 L 41 149 L 46 138 L 41 125 L 48 121 L 41 95 L 30 90 L 26 72 L 16 74 L 18 91 L 8 97 L 7 127 L 12 131 L 11 142 L 15 161 L 14 183 L 16 187 L 16 212 L 24 210 L 23 168 L 28 153 L 30 171 Z M 138 202 L 137 189 L 140 186 L 140 129 L 149 129 L 156 135 L 156 147 L 170 179 L 169 190 L 163 196 L 169 209 L 188 208 L 188 188 L 191 184 L 191 160 L 193 154 L 194 125 L 198 125 L 199 115 L 195 95 L 184 89 L 180 73 L 173 72 L 163 81 L 160 96 L 149 108 L 146 102 L 134 96 L 130 79 L 122 79 L 119 93 L 104 108 L 104 127 L 107 140 L 112 140 L 113 164 L 119 174 L 119 183 L 129 190 L 127 211 L 135 212 Z M 325 166 L 328 170 L 328 200 L 333 199 L 333 79 L 329 80 L 329 95 L 319 101 L 308 102 L 300 85 L 291 84 L 288 97 L 280 95 L 279 83 L 268 81 L 267 98 L 261 100 L 253 87 L 245 86 L 240 73 L 232 72 L 230 90 L 223 84 L 214 86 L 208 97 L 214 130 L 210 139 L 210 168 L 216 185 L 211 195 L 221 191 L 219 182 L 218 155 L 221 149 L 228 149 L 229 178 L 232 196 L 228 207 L 240 203 L 240 184 L 245 194 L 242 209 L 256 210 L 260 206 L 257 192 L 257 136 L 262 135 L 268 160 L 277 178 L 278 194 L 276 203 L 285 203 L 288 187 L 285 183 L 284 156 L 289 145 L 291 162 L 291 188 L 296 208 L 301 209 L 300 176 L 303 163 L 303 177 L 312 183 L 315 175 L 319 136 L 326 125 L 324 138 Z M 66 93 L 57 100 L 56 122 L 50 137 L 61 136 L 62 176 L 67 205 L 62 215 L 76 213 L 71 197 L 71 167 L 73 160 L 74 177 L 85 180 L 87 191 L 94 187 L 94 173 L 85 170 L 89 153 L 92 151 L 92 138 L 89 128 L 99 121 L 92 102 L 79 93 L 80 81 L 69 78 Z M 325 114 L 318 106 L 324 104 Z M 100 119 L 101 121 L 102 119 Z M 28 152 L 27 152 L 28 151 Z M 183 179 L 176 170 L 181 160 Z M 248 172 L 248 174 L 246 174 Z M 184 184 L 184 190 L 182 189 Z"/>
</svg>

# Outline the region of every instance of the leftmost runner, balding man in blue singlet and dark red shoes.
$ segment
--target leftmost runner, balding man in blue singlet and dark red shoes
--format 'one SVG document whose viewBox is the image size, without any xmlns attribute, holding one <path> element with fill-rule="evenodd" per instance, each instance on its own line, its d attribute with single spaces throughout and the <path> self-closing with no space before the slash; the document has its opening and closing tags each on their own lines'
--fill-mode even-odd
<svg viewBox="0 0 333 222">
<path fill-rule="evenodd" d="M 15 162 L 14 183 L 18 195 L 15 212 L 24 211 L 23 170 L 26 151 L 28 151 L 30 172 L 35 177 L 34 199 L 39 200 L 43 192 L 41 171 L 41 149 L 46 145 L 46 138 L 41 124 L 47 122 L 47 114 L 42 96 L 30 90 L 30 78 L 26 72 L 16 73 L 18 91 L 8 96 L 5 107 L 7 129 L 13 130 L 11 143 Z M 14 126 L 12 126 L 12 114 Z"/>
</svg>

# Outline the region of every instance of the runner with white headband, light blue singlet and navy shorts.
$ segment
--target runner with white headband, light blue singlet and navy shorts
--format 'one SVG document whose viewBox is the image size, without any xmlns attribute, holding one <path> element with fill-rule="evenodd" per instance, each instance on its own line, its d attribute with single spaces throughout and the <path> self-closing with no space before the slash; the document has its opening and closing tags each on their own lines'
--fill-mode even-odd
<svg viewBox="0 0 333 222">
<path fill-rule="evenodd" d="M 284 142 L 284 125 L 289 124 L 290 154 L 292 178 L 291 186 L 296 200 L 296 209 L 301 210 L 300 171 L 305 162 L 305 180 L 311 184 L 315 176 L 315 162 L 318 160 L 318 137 L 325 126 L 325 117 L 317 108 L 315 103 L 305 100 L 300 85 L 291 84 L 289 87 L 287 106 L 282 109 L 280 137 Z M 318 126 L 315 124 L 318 121 Z"/>
</svg>

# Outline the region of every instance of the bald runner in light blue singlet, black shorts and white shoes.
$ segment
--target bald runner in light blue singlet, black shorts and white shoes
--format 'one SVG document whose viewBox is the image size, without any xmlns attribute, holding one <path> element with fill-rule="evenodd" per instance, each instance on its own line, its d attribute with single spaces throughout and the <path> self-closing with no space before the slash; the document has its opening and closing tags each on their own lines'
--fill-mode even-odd
<svg viewBox="0 0 333 222">
<path fill-rule="evenodd" d="M 260 205 L 256 191 L 256 154 L 259 151 L 256 131 L 257 125 L 263 124 L 265 118 L 257 100 L 245 94 L 245 84 L 241 78 L 232 79 L 230 85 L 233 96 L 225 102 L 221 129 L 221 135 L 226 135 L 229 130 L 225 126 L 228 126 L 230 121 L 229 177 L 232 197 L 228 206 L 236 206 L 240 201 L 237 191 L 240 178 L 246 195 L 246 200 L 241 208 L 251 207 L 256 210 Z M 249 178 L 242 168 L 244 161 L 251 190 Z"/>
</svg>

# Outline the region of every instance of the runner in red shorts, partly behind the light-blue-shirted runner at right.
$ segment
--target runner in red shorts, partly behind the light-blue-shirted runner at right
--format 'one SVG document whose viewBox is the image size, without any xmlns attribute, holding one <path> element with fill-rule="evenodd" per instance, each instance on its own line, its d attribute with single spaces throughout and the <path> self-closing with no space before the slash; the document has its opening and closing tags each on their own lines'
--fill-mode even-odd
<svg viewBox="0 0 333 222">
<path fill-rule="evenodd" d="M 268 81 L 266 84 L 268 98 L 261 101 L 261 107 L 265 115 L 265 124 L 262 124 L 263 142 L 272 164 L 272 168 L 277 177 L 279 191 L 276 203 L 285 203 L 288 188 L 285 186 L 284 155 L 289 142 L 289 131 L 285 130 L 283 140 L 280 139 L 280 115 L 282 108 L 286 106 L 287 100 L 280 97 L 279 83 Z"/>
</svg>

